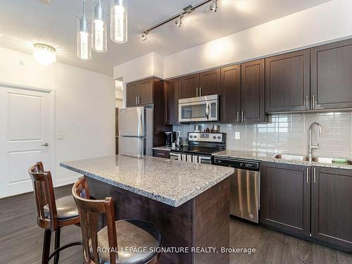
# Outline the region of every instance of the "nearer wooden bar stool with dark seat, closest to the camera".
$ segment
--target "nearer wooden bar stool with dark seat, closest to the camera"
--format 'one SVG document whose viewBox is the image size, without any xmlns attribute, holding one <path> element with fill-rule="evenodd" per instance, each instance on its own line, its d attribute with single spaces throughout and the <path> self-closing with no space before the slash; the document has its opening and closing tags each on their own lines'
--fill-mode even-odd
<svg viewBox="0 0 352 264">
<path fill-rule="evenodd" d="M 161 233 L 150 222 L 142 220 L 115 221 L 113 199 L 111 197 L 105 200 L 89 199 L 87 180 L 84 177 L 77 180 L 73 185 L 72 192 L 80 213 L 84 263 L 158 263 L 160 253 L 156 253 L 156 249 L 161 248 Z M 98 232 L 99 214 L 106 216 L 107 225 Z M 147 250 L 140 253 L 123 250 L 130 248 Z M 150 250 L 151 248 L 153 250 Z M 113 250 L 106 251 L 106 249 Z"/>
</svg>

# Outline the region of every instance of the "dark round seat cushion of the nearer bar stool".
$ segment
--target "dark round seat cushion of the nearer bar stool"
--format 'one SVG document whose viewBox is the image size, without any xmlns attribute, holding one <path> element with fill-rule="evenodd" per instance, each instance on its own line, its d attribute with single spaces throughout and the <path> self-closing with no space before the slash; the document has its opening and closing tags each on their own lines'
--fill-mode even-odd
<svg viewBox="0 0 352 264">
<path fill-rule="evenodd" d="M 161 234 L 150 222 L 142 220 L 119 220 L 115 222 L 116 236 L 118 238 L 118 264 L 142 264 L 156 256 L 156 249 L 161 246 Z M 103 227 L 97 234 L 98 247 L 108 249 L 108 228 Z M 126 248 L 148 249 L 146 253 L 123 252 Z M 92 249 L 92 246 L 91 246 Z M 116 252 L 116 251 L 115 251 Z M 91 252 L 92 254 L 92 252 Z M 110 263 L 108 251 L 99 253 L 100 264 Z"/>
</svg>

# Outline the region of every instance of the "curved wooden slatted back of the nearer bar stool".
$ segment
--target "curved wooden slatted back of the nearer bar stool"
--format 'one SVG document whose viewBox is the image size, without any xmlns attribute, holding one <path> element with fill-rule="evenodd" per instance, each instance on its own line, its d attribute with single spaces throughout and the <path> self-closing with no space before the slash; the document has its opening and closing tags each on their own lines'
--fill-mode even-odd
<svg viewBox="0 0 352 264">
<path fill-rule="evenodd" d="M 80 213 L 80 223 L 82 228 L 82 238 L 84 246 L 84 258 L 87 263 L 100 263 L 99 254 L 97 251 L 97 227 L 98 227 L 98 216 L 99 214 L 106 215 L 106 223 L 108 229 L 108 244 L 109 248 L 117 249 L 118 240 L 116 237 L 115 227 L 115 210 L 113 205 L 113 199 L 111 197 L 105 200 L 91 200 L 89 199 L 89 189 L 87 180 L 81 177 L 73 185 L 73 197 L 77 204 L 78 211 Z M 89 239 L 92 242 L 92 253 L 93 259 L 89 249 Z M 115 251 L 110 253 L 110 263 L 115 264 L 115 260 L 118 260 L 118 256 L 115 256 Z M 115 258 L 117 257 L 117 258 Z"/>
</svg>

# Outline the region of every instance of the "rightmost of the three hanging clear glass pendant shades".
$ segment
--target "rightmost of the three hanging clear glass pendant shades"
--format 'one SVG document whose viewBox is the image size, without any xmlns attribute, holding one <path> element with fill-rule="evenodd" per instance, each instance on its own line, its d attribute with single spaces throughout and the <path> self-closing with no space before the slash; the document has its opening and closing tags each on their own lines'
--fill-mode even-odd
<svg viewBox="0 0 352 264">
<path fill-rule="evenodd" d="M 111 0 L 111 40 L 127 42 L 127 1 Z"/>
</svg>

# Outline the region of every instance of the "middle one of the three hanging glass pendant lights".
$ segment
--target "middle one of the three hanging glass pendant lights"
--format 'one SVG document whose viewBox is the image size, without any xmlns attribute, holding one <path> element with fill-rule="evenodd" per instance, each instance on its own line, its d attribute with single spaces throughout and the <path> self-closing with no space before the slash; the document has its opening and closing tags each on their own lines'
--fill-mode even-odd
<svg viewBox="0 0 352 264">
<path fill-rule="evenodd" d="M 106 52 L 108 39 L 105 1 L 93 1 L 92 11 L 92 49 L 98 52 Z"/>
</svg>

